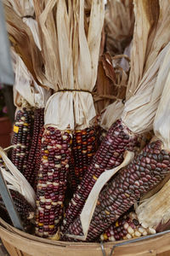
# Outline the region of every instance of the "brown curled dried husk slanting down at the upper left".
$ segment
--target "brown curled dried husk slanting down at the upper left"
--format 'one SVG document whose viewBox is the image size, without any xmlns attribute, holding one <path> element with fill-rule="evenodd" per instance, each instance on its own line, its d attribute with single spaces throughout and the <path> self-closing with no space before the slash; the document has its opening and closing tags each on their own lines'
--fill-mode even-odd
<svg viewBox="0 0 170 256">
<path fill-rule="evenodd" d="M 48 86 L 49 81 L 42 72 L 42 54 L 34 41 L 31 29 L 19 15 L 16 15 L 14 9 L 9 7 L 5 2 L 3 5 L 9 39 L 15 52 L 20 55 L 37 84 L 41 84 L 44 87 L 44 84 L 47 84 Z"/>
</svg>

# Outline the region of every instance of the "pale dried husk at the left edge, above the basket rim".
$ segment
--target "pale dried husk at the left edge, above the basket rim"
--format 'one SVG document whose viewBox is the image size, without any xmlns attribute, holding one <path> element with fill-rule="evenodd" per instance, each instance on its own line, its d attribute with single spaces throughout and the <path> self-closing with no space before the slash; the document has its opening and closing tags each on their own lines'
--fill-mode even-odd
<svg viewBox="0 0 170 256">
<path fill-rule="evenodd" d="M 0 167 L 1 172 L 3 173 L 3 177 L 5 181 L 8 183 L 8 189 L 18 191 L 21 195 L 24 195 L 24 197 L 31 204 L 32 207 L 35 207 L 36 194 L 34 190 L 31 188 L 31 185 L 27 182 L 26 177 L 24 177 L 20 173 L 20 171 L 14 166 L 14 164 L 8 159 L 7 154 L 1 147 L 0 155 L 8 168 L 7 172 Z"/>
</svg>

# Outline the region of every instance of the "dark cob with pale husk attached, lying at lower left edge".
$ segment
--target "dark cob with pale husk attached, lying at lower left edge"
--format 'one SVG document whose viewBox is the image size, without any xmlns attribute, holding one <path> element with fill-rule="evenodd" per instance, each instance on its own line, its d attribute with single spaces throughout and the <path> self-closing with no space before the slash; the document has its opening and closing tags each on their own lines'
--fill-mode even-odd
<svg viewBox="0 0 170 256">
<path fill-rule="evenodd" d="M 36 195 L 26 178 L 19 172 L 14 164 L 8 159 L 7 154 L 0 148 L 0 170 L 14 200 L 16 210 L 26 228 L 30 227 L 34 218 Z M 7 211 L 2 197 L 0 197 L 0 207 Z"/>
</svg>

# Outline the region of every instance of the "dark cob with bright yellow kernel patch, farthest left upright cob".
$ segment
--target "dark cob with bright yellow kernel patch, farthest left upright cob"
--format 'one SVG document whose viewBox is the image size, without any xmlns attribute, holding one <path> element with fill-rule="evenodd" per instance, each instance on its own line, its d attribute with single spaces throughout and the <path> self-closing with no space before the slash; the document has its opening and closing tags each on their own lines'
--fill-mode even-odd
<svg viewBox="0 0 170 256">
<path fill-rule="evenodd" d="M 14 122 L 14 134 L 12 144 L 12 162 L 20 172 L 25 172 L 28 156 L 31 148 L 31 137 L 33 131 L 33 111 L 31 108 L 18 110 Z"/>
</svg>

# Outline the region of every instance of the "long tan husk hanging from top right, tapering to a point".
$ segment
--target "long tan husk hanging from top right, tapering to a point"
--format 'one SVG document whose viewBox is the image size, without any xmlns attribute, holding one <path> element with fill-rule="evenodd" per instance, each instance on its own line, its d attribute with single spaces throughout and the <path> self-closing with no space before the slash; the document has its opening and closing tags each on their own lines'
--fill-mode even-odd
<svg viewBox="0 0 170 256">
<path fill-rule="evenodd" d="M 127 99 L 133 96 L 135 89 L 143 78 L 148 38 L 152 27 L 157 24 L 158 13 L 158 0 L 134 0 L 135 25 L 131 52 L 131 72 L 127 84 Z"/>
</svg>

